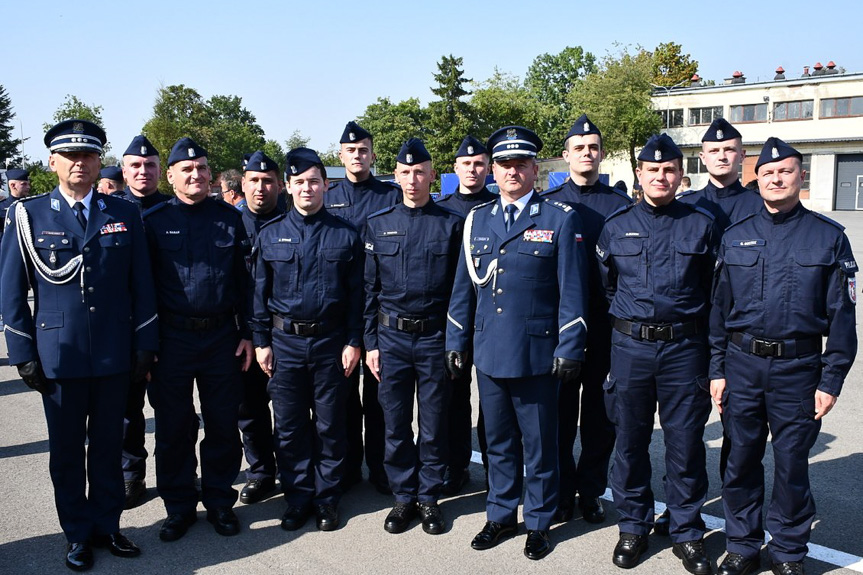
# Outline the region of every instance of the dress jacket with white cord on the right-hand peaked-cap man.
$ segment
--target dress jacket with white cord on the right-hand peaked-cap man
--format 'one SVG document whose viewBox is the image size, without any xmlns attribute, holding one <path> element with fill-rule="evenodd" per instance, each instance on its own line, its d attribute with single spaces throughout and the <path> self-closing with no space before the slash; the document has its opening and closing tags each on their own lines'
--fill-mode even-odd
<svg viewBox="0 0 863 575">
<path fill-rule="evenodd" d="M 506 231 L 501 200 L 465 221 L 446 349 L 470 349 L 490 377 L 551 373 L 555 357 L 584 359 L 587 260 L 572 207 L 532 194 Z"/>
</svg>

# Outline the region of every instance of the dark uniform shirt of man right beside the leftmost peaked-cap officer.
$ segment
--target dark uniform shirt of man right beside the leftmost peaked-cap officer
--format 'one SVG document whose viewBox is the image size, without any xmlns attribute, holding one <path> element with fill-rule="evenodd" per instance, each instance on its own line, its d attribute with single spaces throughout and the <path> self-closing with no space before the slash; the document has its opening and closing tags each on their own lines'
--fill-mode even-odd
<svg viewBox="0 0 863 575">
<path fill-rule="evenodd" d="M 186 317 L 236 314 L 250 339 L 243 302 L 249 273 L 242 215 L 206 198 L 194 205 L 176 197 L 144 212 L 159 309 Z"/>
</svg>

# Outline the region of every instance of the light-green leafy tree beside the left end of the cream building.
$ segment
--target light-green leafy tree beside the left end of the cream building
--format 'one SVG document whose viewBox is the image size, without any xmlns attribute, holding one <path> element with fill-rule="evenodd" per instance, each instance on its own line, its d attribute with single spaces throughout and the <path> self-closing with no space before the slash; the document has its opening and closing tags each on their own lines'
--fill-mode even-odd
<svg viewBox="0 0 863 575">
<path fill-rule="evenodd" d="M 635 150 L 662 127 L 650 99 L 653 55 L 637 50 L 632 54 L 624 47 L 618 55 L 608 54 L 569 95 L 572 108 L 586 113 L 602 130 L 606 151 L 629 155 L 633 175 Z"/>
</svg>

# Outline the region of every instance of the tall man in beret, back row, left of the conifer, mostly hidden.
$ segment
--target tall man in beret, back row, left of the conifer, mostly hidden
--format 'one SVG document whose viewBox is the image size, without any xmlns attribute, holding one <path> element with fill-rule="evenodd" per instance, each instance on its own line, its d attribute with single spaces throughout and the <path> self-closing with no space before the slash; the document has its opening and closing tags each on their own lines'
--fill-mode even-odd
<svg viewBox="0 0 863 575">
<path fill-rule="evenodd" d="M 372 175 L 375 162 L 372 135 L 356 122 L 348 122 L 339 139 L 339 159 L 345 166 L 345 179 L 330 184 L 324 205 L 327 211 L 350 222 L 364 237 L 366 218 L 383 208 L 402 201 L 398 186 L 382 182 Z M 347 490 L 362 480 L 363 446 L 369 481 L 382 494 L 391 493 L 384 471 L 384 416 L 378 403 L 378 381 L 366 377 L 368 366 L 362 368 L 362 400 L 360 371 L 351 376 L 348 397 L 348 459 L 343 483 Z M 365 429 L 365 444 L 363 430 Z"/>
</svg>

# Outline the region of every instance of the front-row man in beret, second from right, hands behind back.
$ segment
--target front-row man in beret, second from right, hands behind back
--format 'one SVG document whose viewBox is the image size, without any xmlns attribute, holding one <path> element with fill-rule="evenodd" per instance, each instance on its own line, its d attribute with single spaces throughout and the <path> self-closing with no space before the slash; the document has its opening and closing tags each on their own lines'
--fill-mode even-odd
<svg viewBox="0 0 863 575">
<path fill-rule="evenodd" d="M 609 216 L 596 244 L 614 326 L 605 383 L 617 431 L 611 489 L 620 538 L 613 562 L 629 569 L 647 549 L 654 519 L 649 447 L 658 404 L 674 554 L 687 571 L 707 575 L 702 436 L 710 415 L 706 320 L 718 232 L 710 212 L 674 198 L 683 154 L 671 138 L 650 138 L 638 162 L 644 200 Z"/>
</svg>

